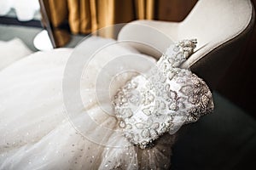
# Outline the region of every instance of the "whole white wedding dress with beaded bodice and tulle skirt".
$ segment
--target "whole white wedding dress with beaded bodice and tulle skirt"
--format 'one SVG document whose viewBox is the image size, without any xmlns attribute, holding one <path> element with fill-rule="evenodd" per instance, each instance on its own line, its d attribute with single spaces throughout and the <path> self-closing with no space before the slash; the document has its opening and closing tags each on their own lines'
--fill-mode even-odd
<svg viewBox="0 0 256 170">
<path fill-rule="evenodd" d="M 113 40 L 84 42 L 89 51 L 104 48 L 80 77 L 83 105 L 67 98 L 75 91 L 63 81 L 74 77 L 65 71 L 81 51 L 38 52 L 0 72 L 0 169 L 170 168 L 174 133 L 213 109 L 207 84 L 178 67 L 193 53 L 195 40 L 172 44 L 157 62 Z M 121 55 L 126 58 L 119 71 L 136 65 L 143 74 L 113 78 L 115 63 L 106 65 Z M 134 55 L 143 60 L 127 63 Z M 104 91 L 106 82 L 110 89 Z"/>
</svg>

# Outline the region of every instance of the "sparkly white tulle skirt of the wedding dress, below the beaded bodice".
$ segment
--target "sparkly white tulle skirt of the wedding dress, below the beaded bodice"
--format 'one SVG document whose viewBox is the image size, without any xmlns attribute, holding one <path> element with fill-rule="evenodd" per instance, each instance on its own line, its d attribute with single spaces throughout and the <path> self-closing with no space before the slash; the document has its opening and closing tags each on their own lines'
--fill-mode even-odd
<svg viewBox="0 0 256 170">
<path fill-rule="evenodd" d="M 80 47 L 86 50 L 102 47 L 102 44 L 113 45 L 98 51 L 97 57 L 90 59 L 90 64 L 83 69 L 79 80 L 83 105 L 65 99 L 65 95 L 73 94 L 74 89 L 63 84 L 70 59 L 83 54 L 81 51 L 59 48 L 38 52 L 0 72 L 0 169 L 170 167 L 173 136 L 166 134 L 154 147 L 141 150 L 122 136 L 111 112 L 111 95 L 135 73 L 128 71 L 113 78 L 111 71 L 102 71 L 104 66 L 106 68 L 124 54 L 150 62 L 154 59 L 109 39 L 90 37 L 84 42 L 84 47 L 83 43 Z M 143 71 L 150 68 L 147 62 L 145 65 L 125 60 L 119 62 L 120 68 L 131 65 L 137 65 Z M 111 82 L 108 90 L 104 88 L 107 82 Z M 99 88 L 96 88 L 97 84 Z M 99 99 L 101 95 L 98 94 L 104 94 L 106 90 L 110 97 Z M 67 105 L 76 108 L 77 112 L 71 113 Z"/>
</svg>

